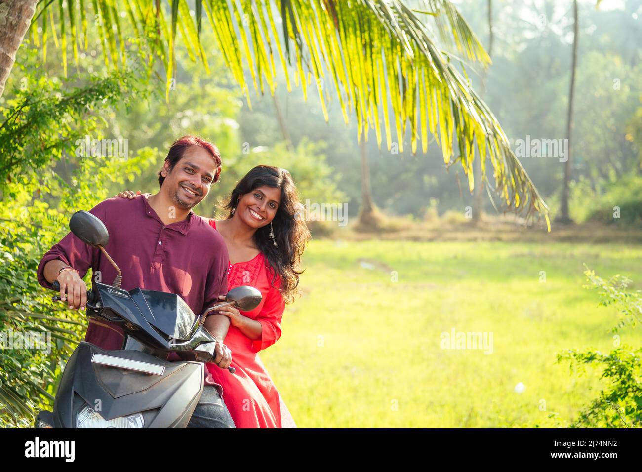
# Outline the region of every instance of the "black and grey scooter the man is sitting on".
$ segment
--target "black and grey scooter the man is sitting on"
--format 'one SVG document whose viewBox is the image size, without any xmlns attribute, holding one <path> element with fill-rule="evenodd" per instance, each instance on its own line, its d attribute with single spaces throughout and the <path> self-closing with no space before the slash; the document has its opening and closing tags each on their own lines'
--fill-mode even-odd
<svg viewBox="0 0 642 472">
<path fill-rule="evenodd" d="M 65 365 L 53 412 L 40 411 L 34 427 L 185 428 L 203 392 L 204 363 L 214 358 L 216 338 L 204 328 L 205 317 L 223 306 L 254 310 L 261 292 L 250 286 L 233 288 L 225 302 L 197 317 L 174 293 L 121 289 L 121 271 L 104 249 L 107 228 L 96 216 L 78 211 L 69 228 L 116 268 L 113 284 L 92 284 L 86 315 L 118 324 L 125 340 L 123 348 L 114 351 L 80 342 Z M 60 292 L 57 281 L 53 290 Z M 179 362 L 168 360 L 172 353 Z M 229 371 L 234 373 L 232 367 Z"/>
</svg>

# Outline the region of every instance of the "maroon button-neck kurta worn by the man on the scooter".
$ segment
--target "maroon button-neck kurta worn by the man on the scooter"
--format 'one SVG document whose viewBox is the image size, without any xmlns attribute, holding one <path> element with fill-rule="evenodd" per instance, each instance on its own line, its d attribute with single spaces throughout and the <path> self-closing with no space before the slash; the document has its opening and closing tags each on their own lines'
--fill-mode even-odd
<svg viewBox="0 0 642 472">
<path fill-rule="evenodd" d="M 134 201 L 109 198 L 89 213 L 100 218 L 109 231 L 105 250 L 123 273 L 124 290 L 139 287 L 176 293 L 199 315 L 218 301 L 218 295 L 227 293 L 229 256 L 225 241 L 193 211 L 182 222 L 164 225 L 148 204 L 149 195 Z M 44 266 L 54 259 L 77 269 L 80 277 L 89 268 L 95 281 L 110 284 L 116 277 L 116 269 L 102 252 L 71 232 L 40 261 L 38 282 L 46 288 L 51 284 L 44 278 Z M 122 349 L 123 331 L 106 320 L 91 320 L 85 340 L 103 349 Z M 211 376 L 205 383 L 216 385 Z"/>
</svg>

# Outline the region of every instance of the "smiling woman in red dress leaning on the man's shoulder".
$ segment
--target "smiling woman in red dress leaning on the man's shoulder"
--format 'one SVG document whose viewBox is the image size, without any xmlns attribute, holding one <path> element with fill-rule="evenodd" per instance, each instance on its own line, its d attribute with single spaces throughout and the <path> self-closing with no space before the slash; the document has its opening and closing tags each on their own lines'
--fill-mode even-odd
<svg viewBox="0 0 642 472">
<path fill-rule="evenodd" d="M 119 197 L 133 197 L 121 192 Z M 281 319 L 286 302 L 293 301 L 299 284 L 299 263 L 310 234 L 304 220 L 297 218 L 301 204 L 288 171 L 256 166 L 232 191 L 225 220 L 210 224 L 227 245 L 230 262 L 228 290 L 239 285 L 256 287 L 263 301 L 252 311 L 230 306 L 220 313 L 229 317 L 225 344 L 232 351 L 232 367 L 207 369 L 223 386 L 223 401 L 237 428 L 281 428 L 282 412 L 277 392 L 257 353 L 281 336 Z M 221 295 L 221 299 L 225 298 Z"/>
</svg>

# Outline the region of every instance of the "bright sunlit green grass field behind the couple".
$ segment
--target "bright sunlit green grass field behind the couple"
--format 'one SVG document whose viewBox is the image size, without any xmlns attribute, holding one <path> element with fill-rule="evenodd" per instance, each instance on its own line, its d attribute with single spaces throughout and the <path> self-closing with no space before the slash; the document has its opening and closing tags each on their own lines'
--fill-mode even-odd
<svg viewBox="0 0 642 472">
<path fill-rule="evenodd" d="M 261 353 L 300 427 L 567 426 L 603 381 L 556 353 L 610 351 L 618 320 L 583 264 L 642 288 L 642 247 L 618 244 L 320 240 L 304 261 Z M 442 349 L 453 328 L 492 332 L 492 354 Z M 642 329 L 620 337 L 637 347 Z"/>
</svg>

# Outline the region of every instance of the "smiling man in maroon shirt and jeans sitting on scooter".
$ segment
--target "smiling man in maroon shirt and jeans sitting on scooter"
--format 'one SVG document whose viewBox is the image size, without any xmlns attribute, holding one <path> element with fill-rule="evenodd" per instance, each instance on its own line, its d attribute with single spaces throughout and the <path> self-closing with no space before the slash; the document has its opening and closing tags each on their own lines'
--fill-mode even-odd
<svg viewBox="0 0 642 472">
<path fill-rule="evenodd" d="M 160 190 L 140 195 L 134 202 L 109 198 L 90 213 L 109 231 L 108 254 L 123 273 L 122 288 L 177 293 L 197 315 L 227 293 L 229 256 L 220 234 L 191 210 L 218 182 L 221 157 L 214 144 L 184 136 L 169 148 L 159 172 Z M 38 281 L 51 288 L 60 283 L 60 297 L 69 308 L 87 303 L 82 277 L 92 268 L 96 282 L 112 283 L 116 270 L 102 252 L 69 232 L 44 255 Z M 222 340 L 229 319 L 219 313 L 207 317 L 205 328 L 217 340 L 214 363 L 227 369 L 230 350 Z M 91 320 L 85 340 L 103 349 L 122 349 L 123 331 L 116 324 Z M 207 369 L 205 369 L 207 373 Z M 231 374 L 230 374 L 231 375 Z M 207 374 L 203 394 L 188 427 L 234 428 L 221 398 L 223 389 Z"/>
</svg>

